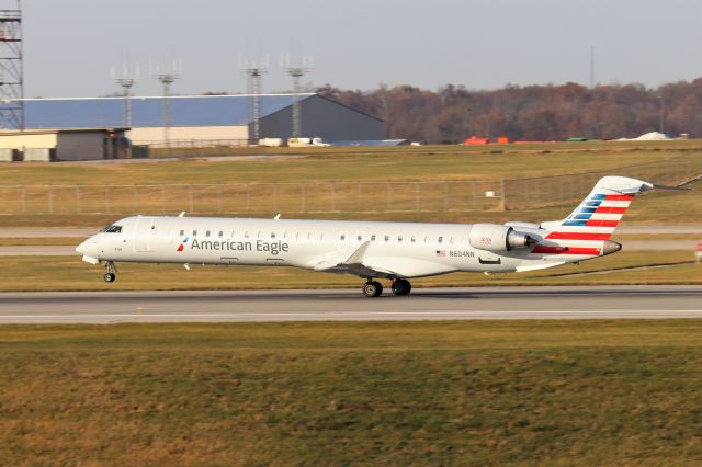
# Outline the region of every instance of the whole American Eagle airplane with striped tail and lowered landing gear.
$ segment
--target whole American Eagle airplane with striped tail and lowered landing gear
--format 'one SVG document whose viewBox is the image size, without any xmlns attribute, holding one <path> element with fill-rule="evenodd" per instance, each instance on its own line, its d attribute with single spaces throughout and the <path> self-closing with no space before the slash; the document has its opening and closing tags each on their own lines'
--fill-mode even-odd
<svg viewBox="0 0 702 467">
<path fill-rule="evenodd" d="M 668 189 L 667 186 L 655 186 Z M 541 224 L 424 224 L 350 220 L 132 216 L 80 243 L 82 260 L 116 262 L 296 266 L 365 278 L 363 295 L 398 296 L 410 278 L 453 272 L 537 271 L 615 253 L 610 238 L 634 195 L 654 185 L 604 176 L 565 219 Z"/>
</svg>

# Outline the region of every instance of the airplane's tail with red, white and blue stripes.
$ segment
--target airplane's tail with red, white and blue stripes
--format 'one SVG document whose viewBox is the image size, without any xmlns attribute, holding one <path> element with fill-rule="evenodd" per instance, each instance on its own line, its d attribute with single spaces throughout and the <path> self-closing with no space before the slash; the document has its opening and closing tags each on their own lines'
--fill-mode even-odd
<svg viewBox="0 0 702 467">
<path fill-rule="evenodd" d="M 571 262 L 584 257 L 601 257 L 620 251 L 612 234 L 629 209 L 634 196 L 654 185 L 625 176 L 604 176 L 565 219 L 544 223 L 548 234 L 534 247 L 532 254 L 559 255 Z"/>
</svg>

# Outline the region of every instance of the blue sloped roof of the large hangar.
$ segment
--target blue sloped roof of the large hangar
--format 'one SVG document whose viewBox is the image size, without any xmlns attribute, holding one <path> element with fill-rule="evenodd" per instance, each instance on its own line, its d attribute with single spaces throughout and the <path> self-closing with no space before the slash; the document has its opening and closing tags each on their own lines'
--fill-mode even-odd
<svg viewBox="0 0 702 467">
<path fill-rule="evenodd" d="M 293 104 L 305 94 L 262 94 L 261 117 Z M 163 98 L 134 96 L 132 126 L 162 126 Z M 247 125 L 250 95 L 178 95 L 171 98 L 172 126 Z M 27 128 L 120 127 L 123 125 L 123 98 L 25 99 Z"/>
</svg>

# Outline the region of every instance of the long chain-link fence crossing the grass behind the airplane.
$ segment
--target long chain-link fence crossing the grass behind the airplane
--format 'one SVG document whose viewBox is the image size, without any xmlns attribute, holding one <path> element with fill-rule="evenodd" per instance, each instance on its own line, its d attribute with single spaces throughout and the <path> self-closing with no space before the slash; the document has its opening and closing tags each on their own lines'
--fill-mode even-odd
<svg viewBox="0 0 702 467">
<path fill-rule="evenodd" d="M 580 201 L 603 175 L 677 185 L 702 174 L 702 155 L 529 179 L 0 186 L 0 214 L 408 213 L 529 209 Z"/>
</svg>

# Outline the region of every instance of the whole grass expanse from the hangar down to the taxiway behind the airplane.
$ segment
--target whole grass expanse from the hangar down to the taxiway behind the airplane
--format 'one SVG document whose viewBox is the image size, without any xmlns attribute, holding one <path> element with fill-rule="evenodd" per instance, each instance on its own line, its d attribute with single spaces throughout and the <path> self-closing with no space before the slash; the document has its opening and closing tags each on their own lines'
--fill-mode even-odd
<svg viewBox="0 0 702 467">
<path fill-rule="evenodd" d="M 8 181 L 0 186 L 0 226 L 98 227 L 132 214 L 181 210 L 241 217 L 281 212 L 312 218 L 541 220 L 567 214 L 604 170 L 665 183 L 702 168 L 702 141 L 282 151 L 307 156 L 0 164 L 0 176 Z M 670 158 L 678 159 L 670 162 Z M 580 175 L 585 172 L 597 173 Z M 544 175 L 550 178 L 531 179 Z M 508 214 L 500 212 L 501 179 L 507 179 Z M 49 184 L 50 190 L 45 186 Z M 484 196 L 487 191 L 496 197 Z M 702 202 L 700 192 L 656 194 L 653 208 L 634 210 L 633 217 L 637 223 L 694 223 L 691 218 L 700 217 L 694 209 Z"/>
</svg>

